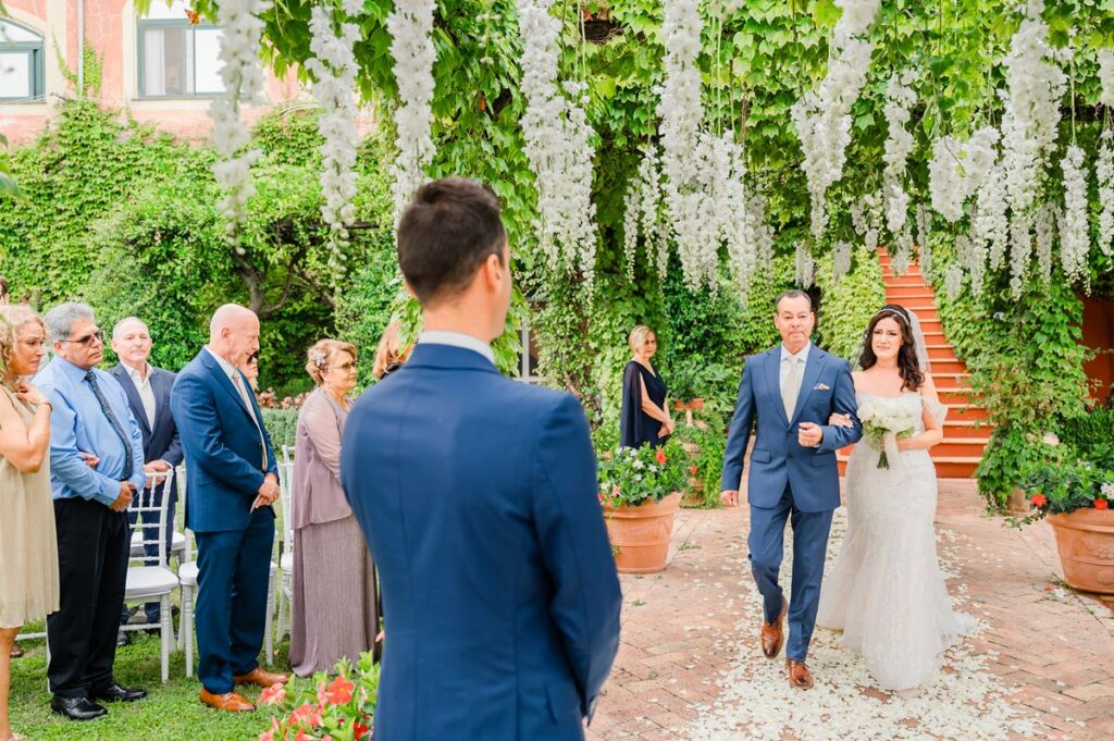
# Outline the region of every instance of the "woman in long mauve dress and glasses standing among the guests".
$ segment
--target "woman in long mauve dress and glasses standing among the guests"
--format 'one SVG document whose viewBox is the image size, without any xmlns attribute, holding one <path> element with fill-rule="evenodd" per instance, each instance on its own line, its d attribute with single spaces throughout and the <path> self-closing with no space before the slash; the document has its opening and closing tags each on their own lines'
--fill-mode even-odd
<svg viewBox="0 0 1114 741">
<path fill-rule="evenodd" d="M 341 437 L 355 386 L 356 350 L 321 340 L 305 370 L 317 384 L 297 416 L 292 513 L 294 608 L 290 662 L 309 676 L 375 645 L 375 568 L 340 484 Z"/>
</svg>

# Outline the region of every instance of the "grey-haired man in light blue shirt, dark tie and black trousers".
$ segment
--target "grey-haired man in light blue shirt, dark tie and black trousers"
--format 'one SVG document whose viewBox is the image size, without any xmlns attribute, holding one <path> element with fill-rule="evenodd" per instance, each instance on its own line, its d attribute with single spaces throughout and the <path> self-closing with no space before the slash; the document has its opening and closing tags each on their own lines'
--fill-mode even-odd
<svg viewBox="0 0 1114 741">
<path fill-rule="evenodd" d="M 50 708 L 70 720 L 141 700 L 113 679 L 130 549 L 127 509 L 146 482 L 139 426 L 120 384 L 97 370 L 105 333 L 92 310 L 63 303 L 46 315 L 55 358 L 35 377 L 50 399 L 50 484 L 61 610 L 47 618 Z M 86 464 L 82 454 L 99 459 Z"/>
</svg>

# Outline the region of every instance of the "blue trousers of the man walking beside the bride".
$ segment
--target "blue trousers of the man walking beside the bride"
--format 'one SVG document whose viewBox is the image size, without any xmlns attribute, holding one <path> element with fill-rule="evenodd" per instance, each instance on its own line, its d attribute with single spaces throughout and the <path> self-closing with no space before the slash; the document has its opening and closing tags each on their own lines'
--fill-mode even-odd
<svg viewBox="0 0 1114 741">
<path fill-rule="evenodd" d="M 751 534 L 746 545 L 751 552 L 751 573 L 762 593 L 762 611 L 766 621 L 778 620 L 785 598 L 778 584 L 778 574 L 781 571 L 786 519 L 793 526 L 793 585 L 789 599 L 785 655 L 804 661 L 820 606 L 820 583 L 824 576 L 832 510 L 801 511 L 793 506 L 793 493 L 789 486 L 776 506 L 751 506 Z"/>
</svg>

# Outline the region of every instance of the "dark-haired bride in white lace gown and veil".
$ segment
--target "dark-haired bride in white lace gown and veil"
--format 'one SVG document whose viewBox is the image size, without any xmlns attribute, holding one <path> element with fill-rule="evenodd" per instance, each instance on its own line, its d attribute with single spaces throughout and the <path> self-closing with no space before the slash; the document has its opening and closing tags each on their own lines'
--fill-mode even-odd
<svg viewBox="0 0 1114 741">
<path fill-rule="evenodd" d="M 912 693 L 931 681 L 942 653 L 975 621 L 952 612 L 936 555 L 936 468 L 929 449 L 942 438 L 946 408 L 927 372 L 915 315 L 887 305 L 870 321 L 854 387 L 859 403 L 919 411 L 912 437 L 896 440 L 889 468 L 863 437 L 847 467 L 848 526 L 824 577 L 817 624 L 842 631 L 883 690 Z M 833 425 L 850 423 L 833 417 Z"/>
</svg>

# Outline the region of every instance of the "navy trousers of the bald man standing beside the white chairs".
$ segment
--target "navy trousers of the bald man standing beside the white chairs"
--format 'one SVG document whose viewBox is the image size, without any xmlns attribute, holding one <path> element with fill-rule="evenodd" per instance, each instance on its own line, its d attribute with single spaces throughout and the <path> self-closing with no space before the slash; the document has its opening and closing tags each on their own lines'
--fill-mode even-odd
<svg viewBox="0 0 1114 741">
<path fill-rule="evenodd" d="M 195 533 L 197 539 L 197 677 L 213 694 L 232 692 L 234 675 L 260 665 L 275 516 L 252 513 L 243 530 Z"/>
</svg>

